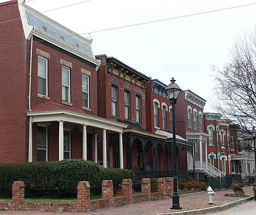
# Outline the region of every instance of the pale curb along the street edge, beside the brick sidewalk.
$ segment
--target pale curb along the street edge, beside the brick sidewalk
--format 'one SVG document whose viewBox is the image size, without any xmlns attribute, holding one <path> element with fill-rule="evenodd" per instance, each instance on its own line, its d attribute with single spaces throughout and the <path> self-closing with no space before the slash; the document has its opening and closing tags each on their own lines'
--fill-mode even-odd
<svg viewBox="0 0 256 215">
<path fill-rule="evenodd" d="M 232 201 L 232 202 L 226 203 L 224 205 L 220 205 L 220 206 L 213 206 L 213 207 L 210 207 L 210 208 L 202 208 L 202 209 L 196 209 L 196 210 L 185 210 L 185 211 L 178 211 L 178 212 L 171 212 L 171 213 L 159 213 L 159 214 L 156 214 L 156 215 L 169 215 L 169 214 L 201 215 L 201 214 L 207 214 L 207 213 L 215 213 L 215 212 L 220 212 L 222 210 L 226 210 L 226 209 L 229 209 L 229 208 L 233 208 L 234 206 L 241 205 L 241 204 L 243 204 L 247 201 L 253 200 L 253 199 L 254 199 L 254 196 L 250 196 L 250 197 L 247 197 L 245 199 Z"/>
</svg>

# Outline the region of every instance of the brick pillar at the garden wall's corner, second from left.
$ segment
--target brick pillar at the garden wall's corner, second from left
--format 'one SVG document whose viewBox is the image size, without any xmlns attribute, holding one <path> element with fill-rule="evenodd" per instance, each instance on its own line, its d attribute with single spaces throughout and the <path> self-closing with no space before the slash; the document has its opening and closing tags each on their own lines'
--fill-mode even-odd
<svg viewBox="0 0 256 215">
<path fill-rule="evenodd" d="M 88 181 L 79 181 L 77 184 L 77 211 L 90 208 L 90 184 Z"/>
</svg>

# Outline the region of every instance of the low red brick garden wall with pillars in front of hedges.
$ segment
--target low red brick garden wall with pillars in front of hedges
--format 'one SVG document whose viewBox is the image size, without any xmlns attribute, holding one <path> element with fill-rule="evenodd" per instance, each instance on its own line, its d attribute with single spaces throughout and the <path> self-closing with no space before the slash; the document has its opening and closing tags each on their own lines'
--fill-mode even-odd
<svg viewBox="0 0 256 215">
<path fill-rule="evenodd" d="M 173 179 L 158 179 L 158 192 L 151 193 L 150 179 L 142 179 L 142 193 L 133 195 L 132 181 L 124 179 L 122 182 L 122 195 L 113 197 L 113 181 L 102 181 L 102 199 L 90 200 L 90 184 L 88 181 L 80 181 L 77 184 L 77 204 L 76 203 L 51 203 L 51 202 L 26 202 L 24 193 L 25 185 L 23 181 L 13 183 L 12 202 L 0 202 L 0 210 L 44 210 L 46 212 L 82 212 L 109 206 L 121 206 L 140 201 L 152 201 L 165 199 L 173 192 Z"/>
</svg>

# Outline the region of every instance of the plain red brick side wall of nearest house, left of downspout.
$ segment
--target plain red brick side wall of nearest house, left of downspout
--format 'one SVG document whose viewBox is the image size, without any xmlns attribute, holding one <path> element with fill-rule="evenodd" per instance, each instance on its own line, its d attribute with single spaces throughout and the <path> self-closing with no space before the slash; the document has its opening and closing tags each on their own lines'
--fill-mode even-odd
<svg viewBox="0 0 256 215">
<path fill-rule="evenodd" d="M 0 163 L 26 162 L 29 72 L 26 59 L 30 49 L 24 38 L 18 2 L 0 3 L 0 10 Z"/>
</svg>

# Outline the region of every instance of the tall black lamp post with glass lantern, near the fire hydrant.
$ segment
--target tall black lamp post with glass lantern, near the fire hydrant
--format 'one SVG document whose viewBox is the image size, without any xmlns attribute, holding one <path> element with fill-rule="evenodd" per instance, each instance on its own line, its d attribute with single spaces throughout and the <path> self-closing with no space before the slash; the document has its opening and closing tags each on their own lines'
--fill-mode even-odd
<svg viewBox="0 0 256 215">
<path fill-rule="evenodd" d="M 177 97 L 180 94 L 181 89 L 177 84 L 175 84 L 175 79 L 172 78 L 171 84 L 166 88 L 166 93 L 172 104 L 172 163 L 174 164 L 174 193 L 172 195 L 172 208 L 170 209 L 182 209 L 180 207 L 180 197 L 177 191 L 177 152 L 176 152 L 176 131 L 175 131 L 175 104 L 177 102 Z"/>
</svg>

